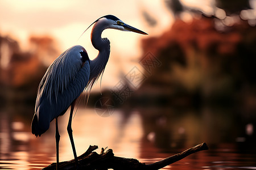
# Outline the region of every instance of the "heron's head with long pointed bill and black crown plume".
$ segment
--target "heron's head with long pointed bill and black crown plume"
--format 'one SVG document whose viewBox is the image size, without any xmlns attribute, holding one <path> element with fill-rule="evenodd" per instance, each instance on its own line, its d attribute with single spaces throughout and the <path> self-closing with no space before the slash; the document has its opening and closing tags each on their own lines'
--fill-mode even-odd
<svg viewBox="0 0 256 170">
<path fill-rule="evenodd" d="M 91 25 L 93 25 L 94 23 L 95 23 L 94 28 L 98 28 L 97 29 L 98 31 L 100 31 L 100 29 L 101 29 L 101 31 L 103 31 L 104 29 L 112 28 L 112 29 L 118 29 L 120 31 L 131 31 L 131 32 L 136 32 L 136 33 L 141 33 L 143 35 L 147 35 L 146 32 L 143 32 L 137 28 L 134 28 L 128 24 L 125 24 L 124 22 L 122 22 L 122 20 L 118 19 L 114 15 L 102 16 L 101 18 L 99 18 L 95 22 L 93 22 Z"/>
</svg>

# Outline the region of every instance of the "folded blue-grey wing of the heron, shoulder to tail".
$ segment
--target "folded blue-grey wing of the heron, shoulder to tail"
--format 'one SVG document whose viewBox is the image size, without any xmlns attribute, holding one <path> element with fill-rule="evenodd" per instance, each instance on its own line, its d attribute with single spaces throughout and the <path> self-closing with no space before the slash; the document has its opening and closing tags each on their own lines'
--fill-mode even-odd
<svg viewBox="0 0 256 170">
<path fill-rule="evenodd" d="M 38 88 L 35 114 L 40 128 L 47 130 L 42 126 L 67 111 L 84 91 L 89 75 L 89 58 L 82 46 L 73 46 L 55 59 Z"/>
</svg>

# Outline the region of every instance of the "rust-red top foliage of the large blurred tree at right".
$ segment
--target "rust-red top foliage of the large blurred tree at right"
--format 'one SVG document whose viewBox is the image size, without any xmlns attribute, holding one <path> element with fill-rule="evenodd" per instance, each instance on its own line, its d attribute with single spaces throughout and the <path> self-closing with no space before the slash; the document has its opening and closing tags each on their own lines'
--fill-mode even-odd
<svg viewBox="0 0 256 170">
<path fill-rule="evenodd" d="M 149 50 L 155 54 L 175 42 L 185 51 L 190 48 L 198 48 L 203 52 L 215 49 L 215 53 L 228 55 L 235 52 L 241 39 L 240 32 L 218 32 L 212 18 L 201 18 L 193 19 L 191 23 L 176 20 L 170 31 L 160 37 L 145 39 L 142 44 L 144 51 Z"/>
</svg>

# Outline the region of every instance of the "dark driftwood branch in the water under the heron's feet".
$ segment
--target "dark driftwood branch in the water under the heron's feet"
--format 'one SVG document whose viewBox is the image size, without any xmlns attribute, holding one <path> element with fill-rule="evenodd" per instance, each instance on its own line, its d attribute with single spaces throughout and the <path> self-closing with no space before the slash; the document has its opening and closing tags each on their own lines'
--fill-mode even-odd
<svg viewBox="0 0 256 170">
<path fill-rule="evenodd" d="M 192 148 L 189 148 L 188 150 L 180 152 L 179 154 L 160 160 L 159 162 L 144 164 L 140 163 L 137 159 L 121 158 L 118 156 L 114 156 L 112 149 L 109 149 L 105 152 L 106 148 L 102 148 L 101 153 L 97 154 L 96 152 L 93 152 L 97 148 L 98 146 L 90 146 L 88 150 L 84 152 L 84 154 L 78 157 L 79 169 L 160 169 L 166 167 L 167 165 L 175 163 L 195 152 L 208 150 L 207 144 L 201 143 L 200 145 L 194 146 Z M 43 169 L 56 169 L 56 163 L 52 163 L 51 165 Z M 72 159 L 67 162 L 61 162 L 60 169 L 76 169 L 75 160 Z"/>
</svg>

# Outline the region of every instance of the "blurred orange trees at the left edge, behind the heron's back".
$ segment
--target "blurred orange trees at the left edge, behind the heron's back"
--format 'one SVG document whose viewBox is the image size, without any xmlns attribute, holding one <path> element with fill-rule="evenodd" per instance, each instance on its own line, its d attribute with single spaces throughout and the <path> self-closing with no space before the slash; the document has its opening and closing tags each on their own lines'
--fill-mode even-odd
<svg viewBox="0 0 256 170">
<path fill-rule="evenodd" d="M 18 41 L 0 35 L 0 100 L 6 103 L 33 103 L 36 89 L 44 75 L 47 62 L 59 53 L 52 37 L 31 36 L 28 52 Z M 43 64 L 44 63 L 44 64 Z M 0 104 L 0 105 L 1 105 Z"/>
</svg>

